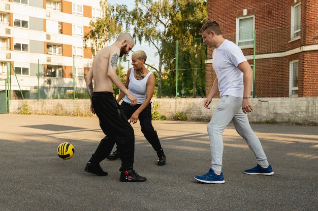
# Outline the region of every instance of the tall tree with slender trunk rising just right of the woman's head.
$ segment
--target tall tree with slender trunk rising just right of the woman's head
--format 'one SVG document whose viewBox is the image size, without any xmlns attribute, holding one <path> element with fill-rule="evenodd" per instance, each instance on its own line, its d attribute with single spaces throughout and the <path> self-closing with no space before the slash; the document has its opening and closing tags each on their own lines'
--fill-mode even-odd
<svg viewBox="0 0 318 211">
<path fill-rule="evenodd" d="M 173 40 L 190 40 L 199 37 L 199 30 L 207 20 L 204 0 L 136 0 L 136 7 L 125 21 L 133 27 L 133 37 L 143 40 L 157 50 L 159 57 L 158 93 L 162 97 L 162 68 L 175 60 L 175 51 L 170 51 Z"/>
</svg>

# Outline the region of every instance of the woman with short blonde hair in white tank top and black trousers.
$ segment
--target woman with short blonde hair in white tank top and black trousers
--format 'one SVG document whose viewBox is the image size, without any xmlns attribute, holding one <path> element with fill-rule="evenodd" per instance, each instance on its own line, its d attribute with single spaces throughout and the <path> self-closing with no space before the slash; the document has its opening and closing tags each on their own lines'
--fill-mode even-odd
<svg viewBox="0 0 318 211">
<path fill-rule="evenodd" d="M 144 51 L 138 50 L 132 55 L 132 65 L 127 72 L 125 87 L 137 98 L 137 105 L 131 106 L 131 102 L 123 93 L 120 93 L 117 102 L 121 103 L 121 108 L 129 119 L 129 122 L 136 123 L 139 119 L 141 131 L 147 141 L 157 153 L 157 165 L 166 164 L 166 155 L 162 149 L 157 132 L 151 124 L 151 98 L 154 92 L 155 77 L 150 70 L 145 67 L 147 55 Z M 107 156 L 107 159 L 115 160 L 120 158 L 117 150 Z"/>
</svg>

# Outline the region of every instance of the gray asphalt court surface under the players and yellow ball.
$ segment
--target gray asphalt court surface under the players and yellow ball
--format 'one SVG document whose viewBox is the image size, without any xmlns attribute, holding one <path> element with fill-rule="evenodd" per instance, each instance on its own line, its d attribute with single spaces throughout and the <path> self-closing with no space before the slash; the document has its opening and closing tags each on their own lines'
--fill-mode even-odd
<svg viewBox="0 0 318 211">
<path fill-rule="evenodd" d="M 318 126 L 251 124 L 275 172 L 246 175 L 256 159 L 230 123 L 224 132 L 224 184 L 202 184 L 211 166 L 208 122 L 153 121 L 167 156 L 135 129 L 135 170 L 146 182 L 119 181 L 120 160 L 104 160 L 108 176 L 84 171 L 104 137 L 97 117 L 0 114 L 0 210 L 317 210 Z M 62 160 L 62 142 L 75 154 Z"/>
</svg>

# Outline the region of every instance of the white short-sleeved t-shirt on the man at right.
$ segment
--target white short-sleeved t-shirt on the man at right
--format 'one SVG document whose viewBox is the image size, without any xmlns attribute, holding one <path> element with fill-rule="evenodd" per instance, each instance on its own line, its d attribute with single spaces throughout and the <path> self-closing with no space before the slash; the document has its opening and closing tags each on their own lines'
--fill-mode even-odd
<svg viewBox="0 0 318 211">
<path fill-rule="evenodd" d="M 212 53 L 213 69 L 218 79 L 220 97 L 243 97 L 243 72 L 237 66 L 247 61 L 240 47 L 226 39 Z"/>
</svg>

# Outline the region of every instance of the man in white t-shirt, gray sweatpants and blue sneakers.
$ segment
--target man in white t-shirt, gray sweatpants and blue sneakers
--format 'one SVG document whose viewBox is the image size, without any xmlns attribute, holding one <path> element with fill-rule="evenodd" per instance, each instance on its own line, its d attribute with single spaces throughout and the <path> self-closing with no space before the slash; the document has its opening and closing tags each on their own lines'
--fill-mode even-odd
<svg viewBox="0 0 318 211">
<path fill-rule="evenodd" d="M 261 142 L 252 131 L 246 115 L 253 110 L 250 101 L 253 72 L 249 63 L 242 50 L 222 36 L 221 28 L 215 21 L 209 20 L 203 24 L 200 34 L 203 37 L 203 43 L 215 48 L 212 58 L 216 78 L 204 101 L 204 107 L 209 109 L 209 104 L 217 92 L 220 94 L 220 102 L 207 126 L 212 166 L 208 173 L 195 176 L 195 179 L 202 183 L 225 183 L 222 173 L 224 148 L 222 133 L 230 121 L 257 158 L 257 166 L 245 170 L 244 173 L 273 175 L 274 172 L 267 161 Z"/>
</svg>

